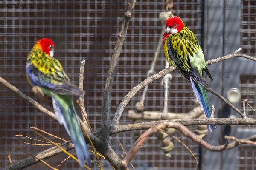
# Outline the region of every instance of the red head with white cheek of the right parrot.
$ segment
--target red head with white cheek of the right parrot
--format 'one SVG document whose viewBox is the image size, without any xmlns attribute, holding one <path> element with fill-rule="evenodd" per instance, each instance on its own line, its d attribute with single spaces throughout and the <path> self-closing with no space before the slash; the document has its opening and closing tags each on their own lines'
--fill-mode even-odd
<svg viewBox="0 0 256 170">
<path fill-rule="evenodd" d="M 169 17 L 166 20 L 166 30 L 167 34 L 175 34 L 180 32 L 184 28 L 184 23 L 180 17 Z"/>
</svg>

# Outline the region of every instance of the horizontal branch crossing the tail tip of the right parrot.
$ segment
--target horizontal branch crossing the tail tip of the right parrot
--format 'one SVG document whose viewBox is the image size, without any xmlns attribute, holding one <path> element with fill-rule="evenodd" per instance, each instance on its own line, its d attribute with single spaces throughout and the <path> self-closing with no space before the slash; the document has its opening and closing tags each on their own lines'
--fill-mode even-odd
<svg viewBox="0 0 256 170">
<path fill-rule="evenodd" d="M 111 135 L 127 132 L 131 130 L 148 129 L 150 126 L 155 126 L 163 122 L 178 122 L 184 126 L 188 125 L 256 125 L 256 119 L 251 118 L 212 118 L 212 119 L 174 119 L 174 120 L 158 120 L 151 122 L 134 123 L 127 125 L 115 125 L 111 130 Z"/>
</svg>

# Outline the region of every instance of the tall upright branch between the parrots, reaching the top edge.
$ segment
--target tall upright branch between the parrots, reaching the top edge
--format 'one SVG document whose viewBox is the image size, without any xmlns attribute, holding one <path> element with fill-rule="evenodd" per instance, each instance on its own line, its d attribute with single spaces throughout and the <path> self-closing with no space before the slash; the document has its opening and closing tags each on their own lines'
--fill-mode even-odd
<svg viewBox="0 0 256 170">
<path fill-rule="evenodd" d="M 105 89 L 103 94 L 104 96 L 103 96 L 102 127 L 101 127 L 102 136 L 106 141 L 108 141 L 108 136 L 109 136 L 109 114 L 110 114 L 109 108 L 111 103 L 111 91 L 112 91 L 113 80 L 115 78 L 116 65 L 122 50 L 122 45 L 125 41 L 127 28 L 129 25 L 131 15 L 134 11 L 135 3 L 136 3 L 136 0 L 127 1 L 125 16 L 123 18 L 121 29 L 119 31 L 116 45 L 114 48 L 114 52 L 111 57 L 111 63 L 108 70 L 108 77 L 106 79 L 106 84 L 105 84 Z"/>
</svg>

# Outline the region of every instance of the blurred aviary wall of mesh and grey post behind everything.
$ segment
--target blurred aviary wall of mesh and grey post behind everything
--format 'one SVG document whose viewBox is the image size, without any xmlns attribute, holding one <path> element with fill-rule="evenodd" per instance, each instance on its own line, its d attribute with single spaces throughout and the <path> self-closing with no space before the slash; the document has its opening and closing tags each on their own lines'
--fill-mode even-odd
<svg viewBox="0 0 256 170">
<path fill-rule="evenodd" d="M 174 15 L 198 37 L 204 49 L 206 60 L 215 59 L 236 51 L 256 57 L 256 1 L 255 0 L 177 0 L 173 1 Z M 82 60 L 86 60 L 84 70 L 84 90 L 86 91 L 85 108 L 93 131 L 101 127 L 102 96 L 108 67 L 122 23 L 126 1 L 83 1 L 83 0 L 52 0 L 0 1 L 0 76 L 16 86 L 26 95 L 38 100 L 26 80 L 26 57 L 34 43 L 49 37 L 55 42 L 55 58 L 57 58 L 71 82 L 78 84 L 79 68 Z M 165 0 L 138 0 L 134 14 L 129 23 L 113 84 L 111 101 L 111 118 L 122 98 L 137 84 L 146 79 L 157 42 L 164 23 L 158 16 L 166 11 Z M 165 68 L 163 48 L 156 62 L 155 72 Z M 209 65 L 213 77 L 209 87 L 227 97 L 232 88 L 239 91 L 238 102 L 234 104 L 241 111 L 242 101 L 248 99 L 256 108 L 256 64 L 242 58 L 233 58 L 225 62 Z M 187 113 L 194 107 L 192 88 L 178 71 L 172 73 L 169 85 L 169 112 Z M 132 123 L 128 118 L 128 110 L 135 110 L 140 100 L 140 91 L 129 102 L 120 123 Z M 215 117 L 239 115 L 224 105 L 220 99 L 208 94 L 209 101 L 215 105 Z M 238 95 L 239 96 L 239 95 Z M 164 88 L 161 79 L 151 83 L 145 98 L 146 111 L 163 111 Z M 75 99 L 74 99 L 75 100 Z M 44 103 L 42 103 L 44 105 Z M 49 110 L 51 107 L 45 106 Z M 76 105 L 79 116 L 79 107 Z M 247 114 L 256 118 L 250 109 Z M 53 121 L 16 94 L 0 85 L 0 169 L 10 165 L 8 154 L 15 146 L 35 154 L 51 146 L 35 146 L 35 142 L 25 137 L 41 139 L 28 127 L 34 126 L 46 130 L 63 139 L 70 140 L 64 127 Z M 189 127 L 192 130 L 196 127 Z M 217 126 L 205 139 L 209 144 L 224 144 L 222 136 L 231 135 L 245 138 L 256 133 L 255 126 Z M 198 159 L 199 167 L 208 170 L 254 170 L 256 167 L 256 147 L 240 146 L 222 153 L 212 153 L 202 149 L 194 142 L 175 132 L 193 151 Z M 119 133 L 110 137 L 111 146 L 116 153 L 123 155 L 118 139 L 128 151 L 134 144 L 134 132 Z M 61 142 L 47 136 L 55 142 Z M 209 139 L 209 140 L 208 140 Z M 152 136 L 134 157 L 132 163 L 136 170 L 195 169 L 195 161 L 190 153 L 179 143 L 174 142 L 171 158 L 164 156 L 160 150 L 160 141 Z M 70 151 L 74 153 L 74 151 Z M 12 162 L 28 157 L 21 150 L 12 153 Z M 67 155 L 64 153 L 47 159 L 47 163 L 56 167 Z M 102 167 L 112 169 L 107 161 L 102 160 Z M 80 169 L 72 159 L 66 160 L 59 169 Z M 29 170 L 49 169 L 38 163 Z"/>
</svg>

